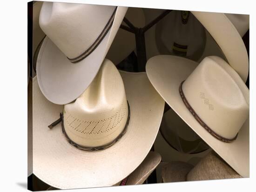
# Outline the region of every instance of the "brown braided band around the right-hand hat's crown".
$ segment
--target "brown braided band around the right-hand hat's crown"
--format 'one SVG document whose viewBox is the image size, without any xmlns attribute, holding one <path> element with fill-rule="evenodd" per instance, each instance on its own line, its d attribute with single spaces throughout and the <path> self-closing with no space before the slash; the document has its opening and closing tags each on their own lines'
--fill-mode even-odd
<svg viewBox="0 0 256 192">
<path fill-rule="evenodd" d="M 184 80 L 185 81 L 185 80 Z M 221 135 L 215 133 L 211 128 L 209 128 L 209 126 L 202 121 L 202 119 L 195 113 L 195 110 L 190 106 L 188 100 L 186 99 L 183 90 L 182 90 L 182 84 L 184 83 L 184 81 L 182 81 L 182 83 L 179 86 L 179 92 L 180 92 L 180 96 L 182 97 L 182 101 L 185 104 L 185 106 L 189 109 L 189 112 L 195 117 L 196 121 L 200 123 L 200 125 L 205 128 L 211 135 L 213 135 L 216 139 L 223 141 L 223 142 L 227 142 L 230 143 L 232 141 L 235 141 L 237 138 L 237 135 L 233 138 L 233 139 L 227 139 L 225 137 L 222 137 Z"/>
</svg>

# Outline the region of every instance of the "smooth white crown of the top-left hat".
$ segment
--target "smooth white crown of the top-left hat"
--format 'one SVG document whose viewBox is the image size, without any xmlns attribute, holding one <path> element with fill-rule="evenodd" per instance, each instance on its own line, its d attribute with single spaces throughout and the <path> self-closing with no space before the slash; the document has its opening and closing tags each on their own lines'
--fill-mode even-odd
<svg viewBox="0 0 256 192">
<path fill-rule="evenodd" d="M 115 6 L 44 2 L 39 24 L 68 58 L 76 58 L 93 45 L 114 10 Z"/>
</svg>

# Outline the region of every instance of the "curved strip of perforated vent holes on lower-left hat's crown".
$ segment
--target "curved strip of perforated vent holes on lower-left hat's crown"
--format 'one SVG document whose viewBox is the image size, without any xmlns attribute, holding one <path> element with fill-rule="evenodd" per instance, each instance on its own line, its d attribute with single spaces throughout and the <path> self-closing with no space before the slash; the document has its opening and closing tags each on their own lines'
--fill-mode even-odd
<svg viewBox="0 0 256 192">
<path fill-rule="evenodd" d="M 112 116 L 94 121 L 84 121 L 65 112 L 64 122 L 80 134 L 105 134 L 119 127 L 124 118 L 127 118 L 126 101 L 122 103 L 121 108 Z"/>
</svg>

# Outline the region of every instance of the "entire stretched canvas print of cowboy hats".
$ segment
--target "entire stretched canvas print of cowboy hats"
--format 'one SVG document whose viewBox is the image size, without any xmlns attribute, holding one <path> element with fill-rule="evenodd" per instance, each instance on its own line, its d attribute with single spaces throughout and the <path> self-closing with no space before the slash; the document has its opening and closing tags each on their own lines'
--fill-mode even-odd
<svg viewBox="0 0 256 192">
<path fill-rule="evenodd" d="M 249 178 L 249 15 L 27 8 L 29 190 Z"/>
</svg>

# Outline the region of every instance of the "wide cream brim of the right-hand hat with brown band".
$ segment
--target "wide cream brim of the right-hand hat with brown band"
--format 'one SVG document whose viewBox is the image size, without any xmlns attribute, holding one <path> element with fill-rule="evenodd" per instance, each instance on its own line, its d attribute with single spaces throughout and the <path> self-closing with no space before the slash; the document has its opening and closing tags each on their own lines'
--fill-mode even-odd
<svg viewBox="0 0 256 192">
<path fill-rule="evenodd" d="M 217 140 L 196 121 L 179 93 L 180 83 L 195 70 L 197 62 L 169 55 L 150 58 L 146 65 L 148 78 L 168 105 L 198 134 L 223 160 L 242 177 L 249 177 L 249 118 L 235 141 Z M 199 113 L 199 112 L 198 112 Z"/>
</svg>

